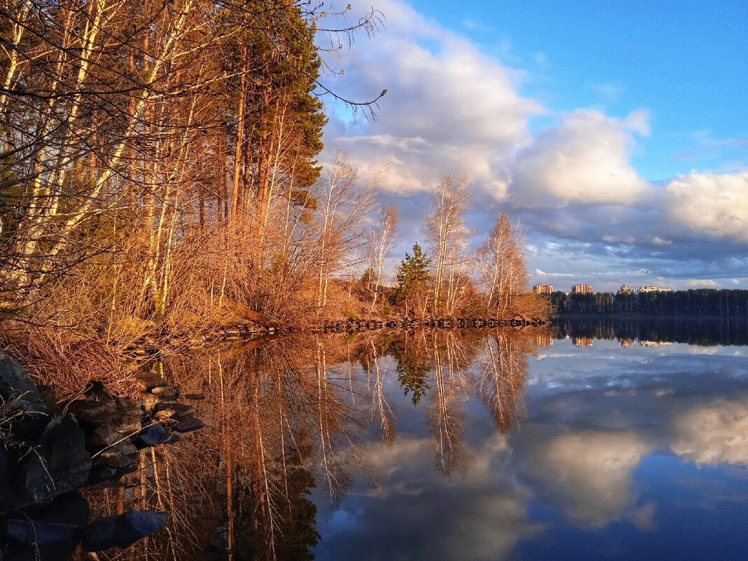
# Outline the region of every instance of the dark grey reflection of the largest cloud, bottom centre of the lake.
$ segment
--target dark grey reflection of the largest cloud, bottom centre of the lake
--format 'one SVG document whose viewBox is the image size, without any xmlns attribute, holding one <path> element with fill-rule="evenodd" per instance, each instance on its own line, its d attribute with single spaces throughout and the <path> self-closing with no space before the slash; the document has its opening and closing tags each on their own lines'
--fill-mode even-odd
<svg viewBox="0 0 748 561">
<path fill-rule="evenodd" d="M 319 557 L 358 559 L 365 552 L 367 560 L 391 560 L 408 552 L 413 559 L 497 560 L 541 530 L 528 519 L 527 491 L 507 473 L 510 452 L 500 435 L 471 450 L 475 468 L 449 484 L 434 469 L 429 438 L 401 435 L 386 454 L 378 444 L 363 452 L 387 501 L 354 493 L 333 512 L 320 512 Z"/>
</svg>

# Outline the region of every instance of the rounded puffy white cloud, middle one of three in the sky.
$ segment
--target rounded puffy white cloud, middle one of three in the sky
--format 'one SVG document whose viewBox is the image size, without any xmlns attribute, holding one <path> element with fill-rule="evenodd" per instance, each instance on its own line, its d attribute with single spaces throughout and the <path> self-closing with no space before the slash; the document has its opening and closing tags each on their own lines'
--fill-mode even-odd
<svg viewBox="0 0 748 561">
<path fill-rule="evenodd" d="M 620 120 L 599 111 L 567 114 L 518 154 L 509 200 L 525 208 L 634 203 L 647 188 L 628 161 L 635 133 L 649 133 L 643 111 Z"/>
</svg>

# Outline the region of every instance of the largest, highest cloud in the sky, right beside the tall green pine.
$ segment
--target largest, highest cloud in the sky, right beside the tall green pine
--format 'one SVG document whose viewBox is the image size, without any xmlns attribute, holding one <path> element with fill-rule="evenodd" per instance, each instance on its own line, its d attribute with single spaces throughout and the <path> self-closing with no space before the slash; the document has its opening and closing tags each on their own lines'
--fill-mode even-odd
<svg viewBox="0 0 748 561">
<path fill-rule="evenodd" d="M 378 120 L 328 111 L 329 150 L 341 147 L 362 173 L 389 158 L 384 187 L 430 191 L 447 172 L 503 198 L 506 159 L 527 141 L 527 120 L 544 110 L 518 94 L 521 73 L 480 52 L 396 0 L 378 2 L 384 31 L 341 52 L 346 76 L 332 84 L 350 99 L 387 88 Z"/>
</svg>

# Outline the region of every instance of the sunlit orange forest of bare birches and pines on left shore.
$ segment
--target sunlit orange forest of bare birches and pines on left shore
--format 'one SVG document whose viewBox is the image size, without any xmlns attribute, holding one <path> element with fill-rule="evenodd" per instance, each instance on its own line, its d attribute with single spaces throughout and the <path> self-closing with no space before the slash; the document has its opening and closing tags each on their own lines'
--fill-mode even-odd
<svg viewBox="0 0 748 561">
<path fill-rule="evenodd" d="M 343 73 L 337 49 L 381 28 L 377 10 L 346 26 L 351 10 L 2 0 L 3 345 L 116 352 L 250 320 L 544 316 L 525 293 L 521 228 L 501 215 L 470 254 L 468 181 L 450 174 L 435 180 L 426 250 L 387 286 L 386 167 L 363 179 L 342 153 L 316 161 L 323 102 L 375 118 L 386 93 L 342 99 L 321 79 Z"/>
</svg>

